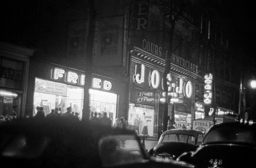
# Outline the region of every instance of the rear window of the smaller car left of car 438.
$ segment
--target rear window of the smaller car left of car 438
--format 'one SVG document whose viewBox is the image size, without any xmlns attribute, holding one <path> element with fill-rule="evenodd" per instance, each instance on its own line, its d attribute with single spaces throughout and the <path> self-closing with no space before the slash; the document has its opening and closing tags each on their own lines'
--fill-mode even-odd
<svg viewBox="0 0 256 168">
<path fill-rule="evenodd" d="M 166 134 L 163 137 L 162 143 L 179 142 L 195 145 L 195 137 L 186 134 Z"/>
</svg>

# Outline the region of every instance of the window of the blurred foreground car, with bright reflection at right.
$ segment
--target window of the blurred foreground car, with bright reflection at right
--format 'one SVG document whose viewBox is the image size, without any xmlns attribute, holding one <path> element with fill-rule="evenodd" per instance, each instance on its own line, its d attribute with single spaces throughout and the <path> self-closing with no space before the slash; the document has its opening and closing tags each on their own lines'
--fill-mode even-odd
<svg viewBox="0 0 256 168">
<path fill-rule="evenodd" d="M 102 166 L 140 162 L 144 159 L 135 135 L 109 135 L 99 140 Z"/>
</svg>

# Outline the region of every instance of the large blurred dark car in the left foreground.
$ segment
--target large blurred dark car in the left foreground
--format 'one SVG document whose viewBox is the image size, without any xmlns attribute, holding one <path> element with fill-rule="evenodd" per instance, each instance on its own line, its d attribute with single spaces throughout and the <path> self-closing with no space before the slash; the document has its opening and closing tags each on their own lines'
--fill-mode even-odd
<svg viewBox="0 0 256 168">
<path fill-rule="evenodd" d="M 151 159 L 134 131 L 61 119 L 1 123 L 0 162 L 11 168 L 194 167 Z"/>
</svg>

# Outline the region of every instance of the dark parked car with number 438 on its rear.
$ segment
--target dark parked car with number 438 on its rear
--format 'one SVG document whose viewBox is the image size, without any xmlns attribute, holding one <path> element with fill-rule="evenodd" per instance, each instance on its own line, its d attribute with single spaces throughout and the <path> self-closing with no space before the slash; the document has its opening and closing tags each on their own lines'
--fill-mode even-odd
<svg viewBox="0 0 256 168">
<path fill-rule="evenodd" d="M 201 168 L 253 168 L 255 158 L 256 126 L 233 122 L 212 126 L 202 145 L 195 152 L 180 155 L 177 161 Z"/>
</svg>

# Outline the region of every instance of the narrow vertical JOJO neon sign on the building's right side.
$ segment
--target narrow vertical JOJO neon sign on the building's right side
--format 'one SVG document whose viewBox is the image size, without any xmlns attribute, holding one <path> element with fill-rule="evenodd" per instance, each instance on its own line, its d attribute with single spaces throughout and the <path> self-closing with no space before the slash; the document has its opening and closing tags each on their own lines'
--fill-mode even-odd
<svg viewBox="0 0 256 168">
<path fill-rule="evenodd" d="M 204 76 L 204 103 L 212 103 L 212 73 Z"/>
</svg>

